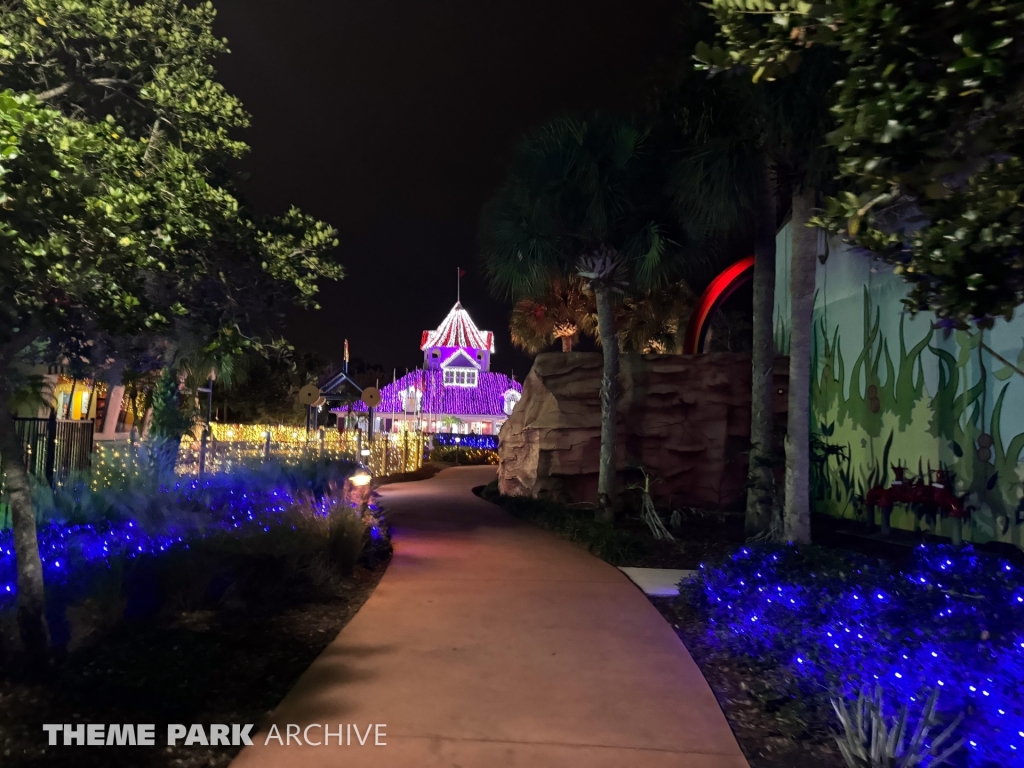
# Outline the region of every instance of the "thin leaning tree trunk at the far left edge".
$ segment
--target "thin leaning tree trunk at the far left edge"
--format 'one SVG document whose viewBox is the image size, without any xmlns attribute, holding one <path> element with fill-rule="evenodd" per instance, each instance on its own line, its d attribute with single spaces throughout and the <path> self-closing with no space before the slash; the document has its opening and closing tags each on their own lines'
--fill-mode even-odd
<svg viewBox="0 0 1024 768">
<path fill-rule="evenodd" d="M 7 498 L 14 529 L 17 560 L 17 625 L 26 654 L 35 667 L 44 667 L 49 648 L 46 627 L 46 598 L 43 591 L 43 562 L 36 538 L 36 512 L 32 485 L 25 468 L 25 446 L 7 413 L 10 392 L 0 388 L 0 463 L 7 475 Z"/>
</svg>

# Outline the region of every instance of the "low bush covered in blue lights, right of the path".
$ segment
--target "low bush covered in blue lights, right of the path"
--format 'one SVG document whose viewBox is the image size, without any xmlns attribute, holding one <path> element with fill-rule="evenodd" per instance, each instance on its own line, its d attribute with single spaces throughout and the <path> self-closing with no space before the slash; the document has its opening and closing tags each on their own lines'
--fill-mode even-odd
<svg viewBox="0 0 1024 768">
<path fill-rule="evenodd" d="M 883 685 L 900 701 L 941 690 L 966 714 L 956 764 L 1024 754 L 1024 577 L 972 550 L 919 547 L 903 569 L 818 547 L 744 547 L 702 565 L 686 597 L 721 646 L 775 669 L 780 695 L 827 706 Z"/>
</svg>

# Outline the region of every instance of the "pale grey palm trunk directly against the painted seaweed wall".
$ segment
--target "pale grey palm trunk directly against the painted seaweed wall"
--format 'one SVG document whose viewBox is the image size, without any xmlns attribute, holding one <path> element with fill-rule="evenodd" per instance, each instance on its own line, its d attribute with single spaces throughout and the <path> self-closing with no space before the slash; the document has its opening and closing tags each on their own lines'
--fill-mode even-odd
<svg viewBox="0 0 1024 768">
<path fill-rule="evenodd" d="M 790 264 L 790 407 L 785 431 L 785 513 L 790 542 L 811 542 L 811 342 L 814 338 L 814 275 L 817 229 L 807 226 L 814 190 L 793 195 L 793 256 Z"/>
</svg>

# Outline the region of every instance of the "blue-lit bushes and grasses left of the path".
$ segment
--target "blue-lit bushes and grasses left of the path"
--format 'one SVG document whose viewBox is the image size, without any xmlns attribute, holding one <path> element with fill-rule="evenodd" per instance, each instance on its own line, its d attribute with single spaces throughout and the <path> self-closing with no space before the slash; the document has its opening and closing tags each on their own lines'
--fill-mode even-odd
<svg viewBox="0 0 1024 768">
<path fill-rule="evenodd" d="M 346 496 L 351 470 L 267 464 L 203 482 L 142 473 L 117 488 L 66 487 L 39 529 L 53 643 L 76 645 L 122 615 L 254 605 L 287 585 L 324 587 L 321 565 L 350 577 L 360 558 L 386 559 L 378 511 Z M 16 600 L 10 539 L 0 532 L 0 613 Z"/>
</svg>

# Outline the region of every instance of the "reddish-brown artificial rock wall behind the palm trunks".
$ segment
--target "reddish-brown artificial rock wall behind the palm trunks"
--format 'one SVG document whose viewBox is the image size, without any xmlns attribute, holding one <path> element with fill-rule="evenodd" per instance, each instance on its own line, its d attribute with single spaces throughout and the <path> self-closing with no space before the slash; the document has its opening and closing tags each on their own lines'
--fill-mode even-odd
<svg viewBox="0 0 1024 768">
<path fill-rule="evenodd" d="M 775 413 L 784 423 L 787 359 L 775 366 Z M 597 500 L 601 355 L 539 354 L 522 399 L 502 427 L 503 494 Z M 660 478 L 655 504 L 742 505 L 751 432 L 751 358 L 731 352 L 622 357 L 616 466 Z M 621 477 L 621 479 L 623 479 Z M 622 485 L 622 483 L 620 483 Z"/>
</svg>

